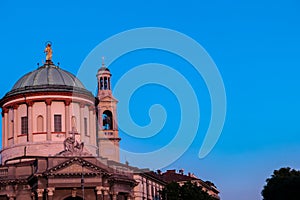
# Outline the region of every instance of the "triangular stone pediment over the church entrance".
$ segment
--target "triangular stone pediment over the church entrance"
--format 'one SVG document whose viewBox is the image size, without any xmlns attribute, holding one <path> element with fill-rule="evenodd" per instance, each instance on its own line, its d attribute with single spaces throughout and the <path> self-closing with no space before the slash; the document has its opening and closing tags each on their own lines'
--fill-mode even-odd
<svg viewBox="0 0 300 200">
<path fill-rule="evenodd" d="M 81 158 L 72 158 L 60 163 L 45 172 L 46 175 L 80 175 L 80 174 L 108 174 L 106 169 L 101 168 Z"/>
</svg>

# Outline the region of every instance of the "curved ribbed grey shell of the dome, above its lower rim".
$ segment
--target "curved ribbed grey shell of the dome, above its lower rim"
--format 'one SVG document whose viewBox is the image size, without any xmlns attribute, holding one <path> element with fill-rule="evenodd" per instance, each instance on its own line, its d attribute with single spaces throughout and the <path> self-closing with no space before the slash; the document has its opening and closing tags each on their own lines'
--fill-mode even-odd
<svg viewBox="0 0 300 200">
<path fill-rule="evenodd" d="M 42 85 L 63 85 L 85 89 L 73 74 L 53 64 L 46 64 L 20 78 L 12 90 Z"/>
</svg>

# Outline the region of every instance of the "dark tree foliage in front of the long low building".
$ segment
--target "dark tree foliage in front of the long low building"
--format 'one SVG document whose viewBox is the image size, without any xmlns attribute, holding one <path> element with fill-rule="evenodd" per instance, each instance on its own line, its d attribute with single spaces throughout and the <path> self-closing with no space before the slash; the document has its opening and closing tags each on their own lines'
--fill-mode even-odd
<svg viewBox="0 0 300 200">
<path fill-rule="evenodd" d="M 215 200 L 202 190 L 202 187 L 186 182 L 180 187 L 176 182 L 169 183 L 161 191 L 162 200 Z"/>
</svg>

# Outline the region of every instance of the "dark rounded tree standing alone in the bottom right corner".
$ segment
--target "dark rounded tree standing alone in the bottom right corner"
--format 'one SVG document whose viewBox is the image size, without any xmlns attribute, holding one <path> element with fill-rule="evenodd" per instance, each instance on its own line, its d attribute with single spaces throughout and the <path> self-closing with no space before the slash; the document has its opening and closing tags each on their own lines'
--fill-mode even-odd
<svg viewBox="0 0 300 200">
<path fill-rule="evenodd" d="M 275 170 L 266 182 L 261 192 L 264 200 L 300 199 L 300 171 L 281 168 Z"/>
</svg>

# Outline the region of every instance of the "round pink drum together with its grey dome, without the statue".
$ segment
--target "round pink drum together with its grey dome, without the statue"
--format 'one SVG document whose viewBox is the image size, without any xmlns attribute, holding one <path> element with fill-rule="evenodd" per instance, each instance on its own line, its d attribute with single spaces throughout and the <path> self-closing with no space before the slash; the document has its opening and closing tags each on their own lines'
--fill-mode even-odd
<svg viewBox="0 0 300 200">
<path fill-rule="evenodd" d="M 57 79 L 52 76 L 60 73 L 67 84 L 45 84 L 42 79 L 34 83 L 45 70 L 48 79 Z M 24 155 L 54 156 L 72 133 L 91 155 L 97 155 L 95 98 L 72 74 L 54 65 L 42 66 L 22 77 L 0 103 L 2 163 Z"/>
</svg>

